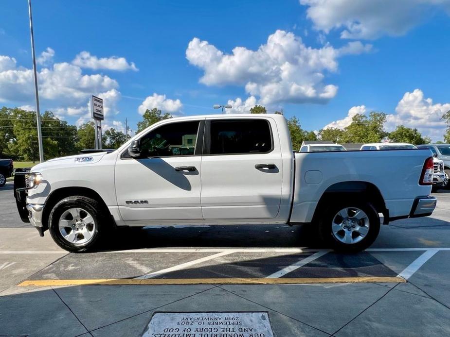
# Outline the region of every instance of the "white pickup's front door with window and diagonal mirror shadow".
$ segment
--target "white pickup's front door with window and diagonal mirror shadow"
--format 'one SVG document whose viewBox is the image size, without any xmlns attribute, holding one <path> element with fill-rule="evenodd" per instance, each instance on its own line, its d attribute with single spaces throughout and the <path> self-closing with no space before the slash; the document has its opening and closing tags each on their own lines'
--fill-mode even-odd
<svg viewBox="0 0 450 337">
<path fill-rule="evenodd" d="M 200 124 L 168 121 L 140 139 L 140 158 L 118 158 L 116 195 L 125 221 L 202 219 Z"/>
</svg>

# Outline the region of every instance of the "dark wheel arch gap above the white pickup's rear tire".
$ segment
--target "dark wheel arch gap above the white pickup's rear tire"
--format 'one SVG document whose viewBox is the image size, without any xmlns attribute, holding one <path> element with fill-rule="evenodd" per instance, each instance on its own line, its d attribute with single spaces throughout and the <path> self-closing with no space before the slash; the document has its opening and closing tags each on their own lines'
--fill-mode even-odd
<svg viewBox="0 0 450 337">
<path fill-rule="evenodd" d="M 314 211 L 313 222 L 317 222 L 328 202 L 335 198 L 367 200 L 373 204 L 378 213 L 383 213 L 384 224 L 389 221 L 389 210 L 386 209 L 384 198 L 376 185 L 364 181 L 346 181 L 330 185 L 324 191 Z"/>
</svg>

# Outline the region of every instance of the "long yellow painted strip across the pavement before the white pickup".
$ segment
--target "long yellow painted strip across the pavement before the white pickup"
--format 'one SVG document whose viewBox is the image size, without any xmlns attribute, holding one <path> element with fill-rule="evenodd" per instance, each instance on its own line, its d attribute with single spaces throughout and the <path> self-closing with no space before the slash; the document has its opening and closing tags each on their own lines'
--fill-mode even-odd
<svg viewBox="0 0 450 337">
<path fill-rule="evenodd" d="M 367 283 L 395 282 L 406 280 L 392 277 L 324 277 L 324 278 L 198 278 L 198 279 L 83 279 L 83 280 L 26 280 L 18 286 L 86 286 L 86 285 L 207 285 L 207 284 L 298 284 L 298 283 Z"/>
</svg>

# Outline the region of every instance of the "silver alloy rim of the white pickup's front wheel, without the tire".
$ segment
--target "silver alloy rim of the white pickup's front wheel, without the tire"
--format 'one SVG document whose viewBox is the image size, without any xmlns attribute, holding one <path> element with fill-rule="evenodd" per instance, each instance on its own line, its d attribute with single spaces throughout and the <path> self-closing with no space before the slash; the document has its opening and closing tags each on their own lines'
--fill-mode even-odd
<svg viewBox="0 0 450 337">
<path fill-rule="evenodd" d="M 83 208 L 69 208 L 59 217 L 59 233 L 66 241 L 76 245 L 90 242 L 95 228 L 94 219 Z"/>
</svg>

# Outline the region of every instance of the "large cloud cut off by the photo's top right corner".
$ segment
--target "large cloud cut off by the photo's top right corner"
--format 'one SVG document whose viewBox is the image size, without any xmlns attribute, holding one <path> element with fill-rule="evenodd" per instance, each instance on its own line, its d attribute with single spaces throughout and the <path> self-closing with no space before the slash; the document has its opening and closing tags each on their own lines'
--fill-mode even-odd
<svg viewBox="0 0 450 337">
<path fill-rule="evenodd" d="M 450 0 L 300 0 L 314 28 L 341 30 L 342 38 L 373 39 L 405 34 L 439 10 L 450 14 Z"/>
</svg>

